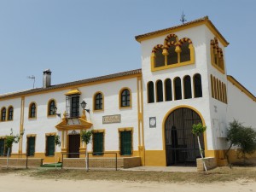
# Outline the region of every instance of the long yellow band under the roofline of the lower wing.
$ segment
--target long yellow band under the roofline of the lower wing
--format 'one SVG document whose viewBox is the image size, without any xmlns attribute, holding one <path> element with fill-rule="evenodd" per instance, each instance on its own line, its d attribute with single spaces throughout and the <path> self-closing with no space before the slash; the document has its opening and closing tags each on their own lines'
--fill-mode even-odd
<svg viewBox="0 0 256 192">
<path fill-rule="evenodd" d="M 50 89 L 50 90 L 40 90 L 40 91 L 34 92 L 34 93 L 21 94 L 20 96 L 7 96 L 7 97 L 4 97 L 4 98 L 1 98 L 1 100 L 4 101 L 4 100 L 9 100 L 10 98 L 12 98 L 12 99 L 20 98 L 21 96 L 36 96 L 36 95 L 40 95 L 40 94 L 46 94 L 46 93 L 51 93 L 51 92 L 56 92 L 56 91 L 61 91 L 61 90 L 77 89 L 78 87 L 90 86 L 90 85 L 95 85 L 95 84 L 107 84 L 107 83 L 113 82 L 113 81 L 119 81 L 119 80 L 124 80 L 124 79 L 132 79 L 132 78 L 137 78 L 137 77 L 142 77 L 142 73 L 125 75 L 125 76 L 122 76 L 122 77 L 112 78 L 112 79 L 103 79 L 103 80 L 98 80 L 98 81 L 90 82 L 90 83 L 67 85 L 66 87 L 55 88 L 55 89 Z"/>
</svg>

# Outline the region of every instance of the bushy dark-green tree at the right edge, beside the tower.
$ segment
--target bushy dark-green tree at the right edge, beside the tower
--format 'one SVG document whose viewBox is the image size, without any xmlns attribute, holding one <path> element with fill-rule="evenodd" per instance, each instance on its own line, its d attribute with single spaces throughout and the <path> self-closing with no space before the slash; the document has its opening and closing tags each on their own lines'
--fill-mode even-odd
<svg viewBox="0 0 256 192">
<path fill-rule="evenodd" d="M 232 148 L 233 146 L 236 146 L 238 148 L 237 154 L 241 154 L 244 164 L 246 160 L 246 155 L 253 154 L 256 151 L 256 131 L 254 131 L 253 128 L 250 126 L 243 126 L 236 119 L 234 119 L 229 124 L 227 141 L 230 143 L 230 147 L 225 153 L 227 159 L 230 148 Z"/>
</svg>

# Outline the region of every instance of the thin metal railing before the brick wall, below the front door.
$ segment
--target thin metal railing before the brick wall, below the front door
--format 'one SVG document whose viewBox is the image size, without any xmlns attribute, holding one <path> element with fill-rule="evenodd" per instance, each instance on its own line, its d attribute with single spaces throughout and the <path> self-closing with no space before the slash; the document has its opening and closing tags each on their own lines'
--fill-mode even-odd
<svg viewBox="0 0 256 192">
<path fill-rule="evenodd" d="M 80 154 L 84 155 L 84 158 L 79 157 Z M 105 155 L 107 154 L 107 156 Z M 82 168 L 85 167 L 85 154 L 84 153 L 63 153 L 61 154 L 61 169 L 63 165 L 70 168 Z M 113 156 L 112 156 L 113 155 Z M 64 158 L 66 156 L 66 158 Z M 76 157 L 77 156 L 77 157 Z M 88 153 L 87 156 L 88 169 L 90 168 L 114 168 L 118 170 L 118 158 L 117 153 Z"/>
</svg>

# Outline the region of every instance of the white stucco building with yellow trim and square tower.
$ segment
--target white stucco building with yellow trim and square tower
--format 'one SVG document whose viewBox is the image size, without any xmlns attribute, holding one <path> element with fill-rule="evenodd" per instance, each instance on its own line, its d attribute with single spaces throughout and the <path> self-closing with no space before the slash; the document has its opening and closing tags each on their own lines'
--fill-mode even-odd
<svg viewBox="0 0 256 192">
<path fill-rule="evenodd" d="M 79 132 L 90 129 L 87 148 L 97 156 L 117 152 L 141 157 L 143 166 L 194 165 L 200 154 L 193 124 L 207 125 L 201 143 L 216 160 L 224 158 L 230 121 L 256 127 L 256 98 L 227 75 L 229 43 L 207 17 L 136 40 L 141 69 L 55 85 L 46 70 L 42 88 L 1 95 L 0 154 L 13 129 L 24 132 L 13 154 L 54 162 L 55 155 L 84 152 Z M 55 135 L 61 147 L 55 148 Z"/>
</svg>

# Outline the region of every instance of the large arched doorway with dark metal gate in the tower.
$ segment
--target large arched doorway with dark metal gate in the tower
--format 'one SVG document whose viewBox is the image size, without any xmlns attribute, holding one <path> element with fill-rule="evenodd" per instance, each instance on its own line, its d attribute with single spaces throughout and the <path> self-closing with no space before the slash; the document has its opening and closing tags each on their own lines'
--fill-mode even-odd
<svg viewBox="0 0 256 192">
<path fill-rule="evenodd" d="M 200 115 L 191 108 L 177 108 L 169 114 L 165 125 L 167 166 L 196 166 L 200 150 L 192 125 L 200 122 Z M 204 148 L 203 136 L 200 140 Z"/>
</svg>

